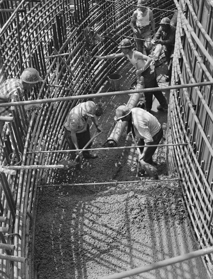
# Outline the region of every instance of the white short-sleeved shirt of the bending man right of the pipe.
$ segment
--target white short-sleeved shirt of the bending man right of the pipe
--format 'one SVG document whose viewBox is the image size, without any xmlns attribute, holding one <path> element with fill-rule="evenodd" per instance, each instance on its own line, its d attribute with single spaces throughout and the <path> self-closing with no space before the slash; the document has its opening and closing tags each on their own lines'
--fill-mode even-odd
<svg viewBox="0 0 213 279">
<path fill-rule="evenodd" d="M 161 125 L 151 113 L 139 108 L 131 109 L 135 136 L 143 138 L 145 144 L 153 142 L 153 136 L 160 131 Z"/>
</svg>

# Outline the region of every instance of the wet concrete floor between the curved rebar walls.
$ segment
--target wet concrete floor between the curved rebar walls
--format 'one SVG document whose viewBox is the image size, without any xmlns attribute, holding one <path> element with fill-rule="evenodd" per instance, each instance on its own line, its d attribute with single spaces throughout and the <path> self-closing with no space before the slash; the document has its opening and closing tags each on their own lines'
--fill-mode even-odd
<svg viewBox="0 0 213 279">
<path fill-rule="evenodd" d="M 120 89 L 129 89 L 135 75 L 130 63 L 125 61 L 117 73 L 123 77 Z M 159 85 L 168 85 L 164 82 L 164 64 L 157 68 L 157 73 Z M 107 90 L 106 81 L 99 92 Z M 168 100 L 169 92 L 165 95 Z M 95 138 L 93 148 L 101 147 L 109 137 L 115 110 L 128 98 L 120 95 L 95 99 L 103 104 L 98 119 L 104 132 Z M 163 144 L 167 115 L 158 112 L 157 105 L 154 100 L 152 113 L 162 124 Z M 92 125 L 91 134 L 94 131 Z M 119 146 L 131 145 L 131 137 L 125 130 Z M 134 148 L 102 150 L 98 154 L 97 159 L 83 162 L 80 176 L 75 170 L 59 170 L 56 184 L 120 183 L 47 187 L 40 191 L 34 253 L 38 278 L 97 279 L 200 249 L 185 211 L 179 181 L 146 182 L 151 179 L 147 175 L 137 178 Z M 175 171 L 167 173 L 165 147 L 157 149 L 154 161 L 160 180 L 176 178 Z M 125 181 L 129 183 L 122 183 Z M 207 279 L 209 276 L 202 259 L 196 258 L 131 278 Z"/>
</svg>

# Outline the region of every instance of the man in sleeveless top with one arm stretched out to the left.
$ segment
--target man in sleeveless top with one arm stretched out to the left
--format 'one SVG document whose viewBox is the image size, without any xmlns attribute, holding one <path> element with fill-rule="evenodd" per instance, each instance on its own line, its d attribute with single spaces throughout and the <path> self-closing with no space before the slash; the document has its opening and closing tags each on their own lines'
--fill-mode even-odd
<svg viewBox="0 0 213 279">
<path fill-rule="evenodd" d="M 136 74 L 138 76 L 138 80 L 140 77 L 144 77 L 144 84 L 145 88 L 153 88 L 159 87 L 157 80 L 156 80 L 156 72 L 155 69 L 150 67 L 152 59 L 142 54 L 139 51 L 132 50 L 132 44 L 130 40 L 124 39 L 119 44 L 119 48 L 121 49 L 122 53 L 114 53 L 106 56 L 95 56 L 96 58 L 100 59 L 110 59 L 110 58 L 118 58 L 118 57 L 127 57 L 132 65 L 136 68 Z M 145 109 L 150 112 L 152 109 L 152 101 L 153 95 L 159 101 L 160 105 L 157 107 L 158 110 L 162 110 L 167 112 L 168 104 L 166 102 L 166 98 L 164 97 L 162 91 L 154 91 L 154 92 L 145 92 Z"/>
</svg>

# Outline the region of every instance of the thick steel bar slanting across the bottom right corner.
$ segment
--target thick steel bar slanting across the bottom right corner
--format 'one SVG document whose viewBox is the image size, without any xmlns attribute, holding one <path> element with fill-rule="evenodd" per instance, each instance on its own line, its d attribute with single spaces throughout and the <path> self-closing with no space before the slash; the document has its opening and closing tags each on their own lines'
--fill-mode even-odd
<svg viewBox="0 0 213 279">
<path fill-rule="evenodd" d="M 176 256 L 176 257 L 166 259 L 166 260 L 163 260 L 163 261 L 159 261 L 159 262 L 150 264 L 148 266 L 136 267 L 136 268 L 126 270 L 126 271 L 122 271 L 122 272 L 119 272 L 119 273 L 115 273 L 115 274 L 112 274 L 112 275 L 109 275 L 109 276 L 99 277 L 98 279 L 126 278 L 126 277 L 133 276 L 133 275 L 136 275 L 136 274 L 139 274 L 139 273 L 147 272 L 147 271 L 150 271 L 150 270 L 154 270 L 154 269 L 161 268 L 161 267 L 164 267 L 164 266 L 172 265 L 172 264 L 175 264 L 175 263 L 180 263 L 180 262 L 183 262 L 183 261 L 187 261 L 187 260 L 194 259 L 194 258 L 197 258 L 197 257 L 201 257 L 201 256 L 204 256 L 204 255 L 208 255 L 208 254 L 211 254 L 211 253 L 213 253 L 213 246 L 205 247 L 203 249 L 190 252 L 188 254 L 184 254 L 184 255 Z"/>
</svg>

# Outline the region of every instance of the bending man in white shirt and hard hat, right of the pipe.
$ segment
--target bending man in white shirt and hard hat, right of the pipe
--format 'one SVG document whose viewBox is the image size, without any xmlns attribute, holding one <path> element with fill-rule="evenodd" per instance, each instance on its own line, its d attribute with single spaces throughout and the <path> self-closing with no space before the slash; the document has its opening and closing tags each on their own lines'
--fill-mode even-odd
<svg viewBox="0 0 213 279">
<path fill-rule="evenodd" d="M 114 119 L 128 122 L 127 134 L 131 131 L 132 135 L 138 138 L 138 145 L 158 145 L 163 136 L 163 129 L 157 118 L 143 109 L 130 110 L 127 106 L 119 106 Z M 157 147 L 141 147 L 138 162 L 143 159 L 146 163 L 155 164 L 152 157 L 156 149 Z M 140 177 L 144 173 L 144 169 L 138 163 L 137 176 Z"/>
</svg>

